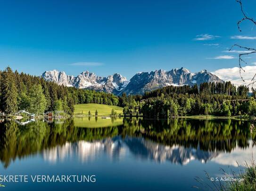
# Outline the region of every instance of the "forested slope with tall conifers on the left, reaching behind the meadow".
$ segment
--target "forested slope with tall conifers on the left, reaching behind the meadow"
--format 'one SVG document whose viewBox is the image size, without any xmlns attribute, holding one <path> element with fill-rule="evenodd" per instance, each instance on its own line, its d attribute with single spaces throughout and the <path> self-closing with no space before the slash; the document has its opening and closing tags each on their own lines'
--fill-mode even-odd
<svg viewBox="0 0 256 191">
<path fill-rule="evenodd" d="M 36 115 L 45 111 L 64 110 L 72 115 L 74 104 L 99 103 L 118 105 L 118 97 L 110 93 L 77 89 L 47 82 L 7 67 L 0 71 L 0 112 L 14 114 L 26 110 Z"/>
</svg>

